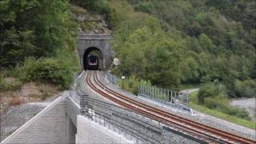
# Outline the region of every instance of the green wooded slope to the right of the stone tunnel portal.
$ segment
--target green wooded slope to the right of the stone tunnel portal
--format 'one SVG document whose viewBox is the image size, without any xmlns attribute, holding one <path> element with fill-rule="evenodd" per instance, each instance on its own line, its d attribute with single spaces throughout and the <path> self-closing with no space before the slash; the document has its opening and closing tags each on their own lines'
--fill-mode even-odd
<svg viewBox="0 0 256 144">
<path fill-rule="evenodd" d="M 113 30 L 116 74 L 172 89 L 218 80 L 230 98 L 256 94 L 254 1 L 77 2 Z"/>
</svg>

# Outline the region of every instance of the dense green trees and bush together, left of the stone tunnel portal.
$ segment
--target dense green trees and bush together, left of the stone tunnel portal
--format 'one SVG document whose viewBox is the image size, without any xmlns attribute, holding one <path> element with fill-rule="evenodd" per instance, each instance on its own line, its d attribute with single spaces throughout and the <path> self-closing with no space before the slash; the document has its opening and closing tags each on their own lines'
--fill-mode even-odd
<svg viewBox="0 0 256 144">
<path fill-rule="evenodd" d="M 22 82 L 69 86 L 78 61 L 77 28 L 68 0 L 3 0 L 0 27 L 1 69 L 10 70 Z"/>
</svg>

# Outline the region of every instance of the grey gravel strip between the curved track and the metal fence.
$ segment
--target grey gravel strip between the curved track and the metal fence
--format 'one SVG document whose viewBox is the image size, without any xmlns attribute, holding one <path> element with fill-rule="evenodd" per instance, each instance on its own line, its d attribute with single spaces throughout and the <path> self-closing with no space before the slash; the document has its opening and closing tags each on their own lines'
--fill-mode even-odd
<svg viewBox="0 0 256 144">
<path fill-rule="evenodd" d="M 244 126 L 239 126 L 237 124 L 234 124 L 232 122 L 227 122 L 225 120 L 222 120 L 220 118 L 215 118 L 213 116 L 207 115 L 207 114 L 202 114 L 196 110 L 192 110 L 193 113 L 188 113 L 184 110 L 178 110 L 177 108 L 173 108 L 171 106 L 167 106 L 164 104 L 161 104 L 157 101 L 154 101 L 152 99 L 148 98 L 143 98 L 143 97 L 138 97 L 134 94 L 131 94 L 130 92 L 127 92 L 125 90 L 120 90 L 118 89 L 117 86 L 111 85 L 109 82 L 107 82 L 107 78 L 104 76 L 102 73 L 98 73 L 98 76 L 101 80 L 101 82 L 104 82 L 106 86 L 109 86 L 110 89 L 116 90 L 118 93 L 126 95 L 129 98 L 133 98 L 134 100 L 137 100 L 138 102 L 143 102 L 145 104 L 148 104 L 150 106 L 157 107 L 158 109 L 161 110 L 166 110 L 167 112 L 171 114 L 177 114 L 179 116 L 182 116 L 183 118 L 188 118 L 191 119 L 195 122 L 200 122 L 203 123 L 207 126 L 212 126 L 215 127 L 219 130 L 224 130 L 227 132 L 230 132 L 232 134 L 238 134 L 242 137 L 245 138 L 250 138 L 250 139 L 255 139 L 255 130 L 252 130 L 250 128 L 244 127 Z"/>
</svg>

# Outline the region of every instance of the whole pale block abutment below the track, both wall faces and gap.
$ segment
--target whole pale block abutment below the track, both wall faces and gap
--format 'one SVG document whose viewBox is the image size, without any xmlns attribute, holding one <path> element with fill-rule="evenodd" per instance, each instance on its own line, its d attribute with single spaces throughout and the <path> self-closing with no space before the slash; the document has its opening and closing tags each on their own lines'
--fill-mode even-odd
<svg viewBox="0 0 256 144">
<path fill-rule="evenodd" d="M 59 97 L 13 134 L 10 134 L 1 144 L 133 143 L 121 134 L 116 134 L 114 131 L 78 115 L 79 108 L 80 106 L 74 102 L 74 99 Z"/>
</svg>

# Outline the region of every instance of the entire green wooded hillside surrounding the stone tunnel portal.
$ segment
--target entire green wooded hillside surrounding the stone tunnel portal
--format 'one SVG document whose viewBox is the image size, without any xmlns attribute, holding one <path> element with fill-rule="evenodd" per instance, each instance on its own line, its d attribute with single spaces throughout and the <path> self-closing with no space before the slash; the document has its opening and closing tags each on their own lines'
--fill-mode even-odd
<svg viewBox="0 0 256 144">
<path fill-rule="evenodd" d="M 125 75 L 131 91 L 139 81 L 172 90 L 201 86 L 199 104 L 246 117 L 226 102 L 256 95 L 255 6 L 254 0 L 3 0 L 1 90 L 31 81 L 69 88 L 78 71 L 77 32 L 111 33 L 121 62 L 112 72 Z"/>
</svg>

